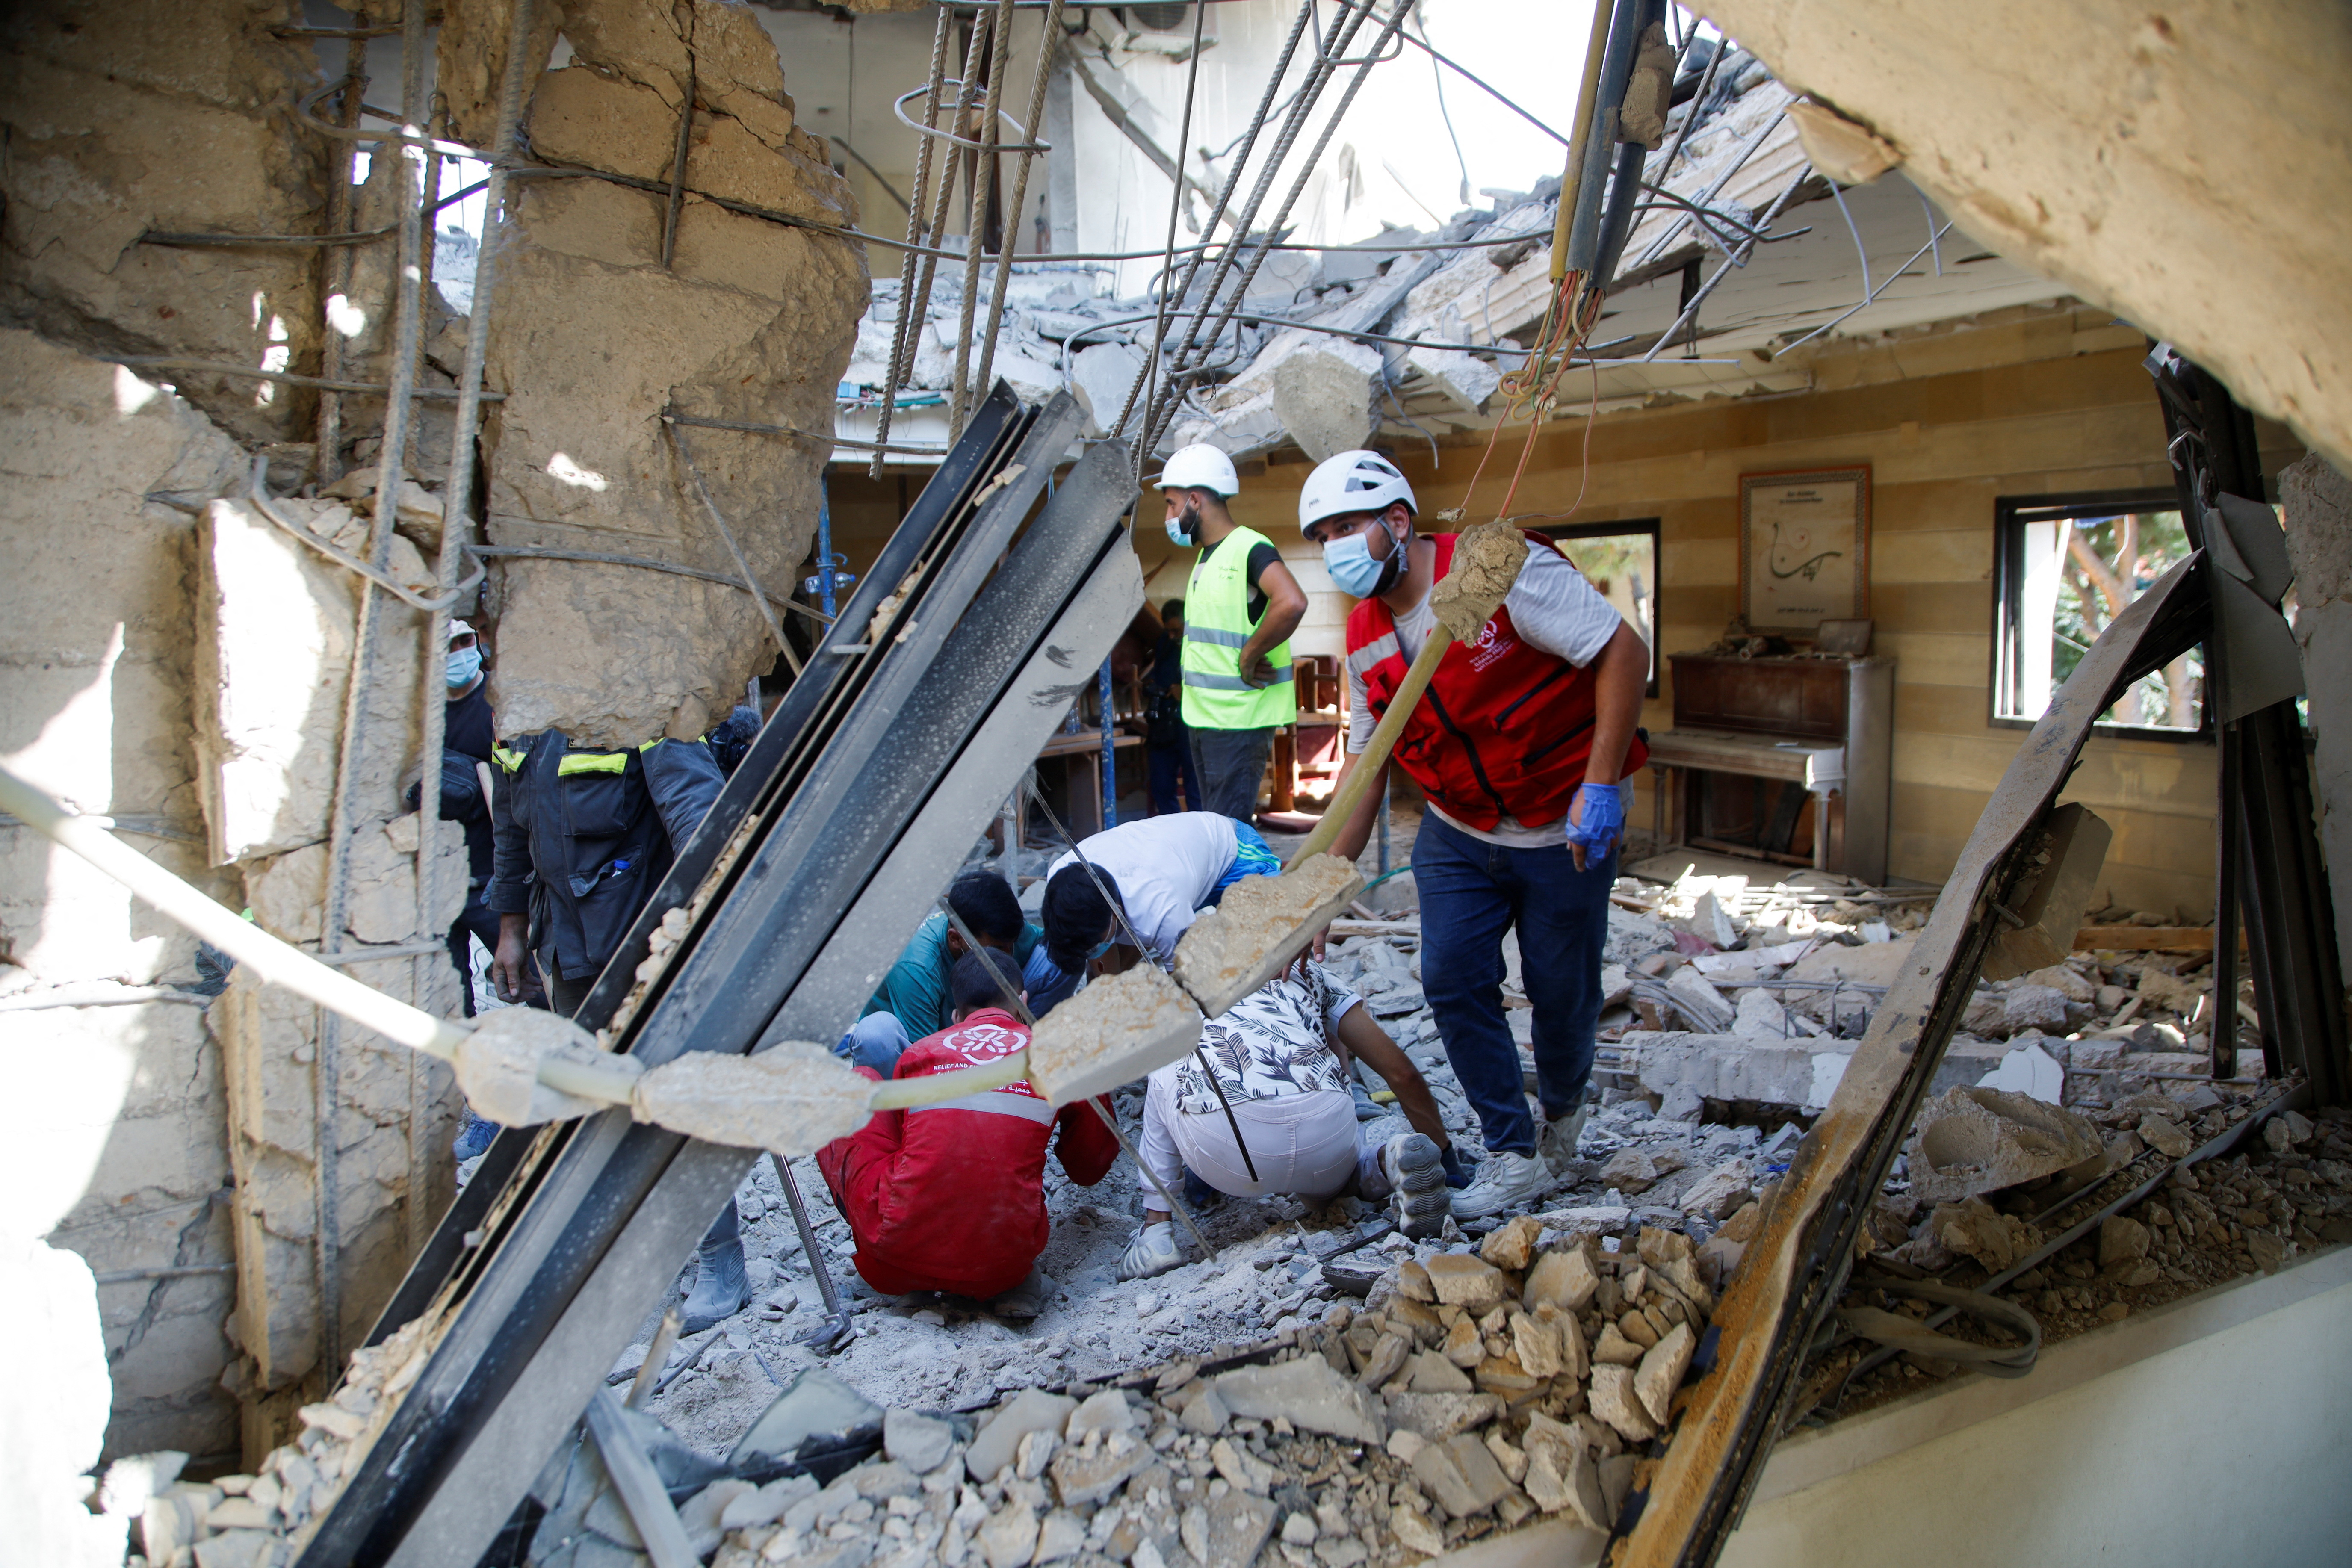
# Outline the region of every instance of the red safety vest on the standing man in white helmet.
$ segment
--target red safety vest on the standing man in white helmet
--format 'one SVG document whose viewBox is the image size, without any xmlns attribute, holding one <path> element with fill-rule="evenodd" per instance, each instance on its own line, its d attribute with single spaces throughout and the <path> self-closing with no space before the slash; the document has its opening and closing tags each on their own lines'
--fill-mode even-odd
<svg viewBox="0 0 2352 1568">
<path fill-rule="evenodd" d="M 1437 576 L 1454 559 L 1456 534 L 1430 534 Z M 1531 548 L 1559 545 L 1529 534 Z M 1397 644 L 1397 618 L 1381 599 L 1348 614 L 1348 668 L 1364 677 L 1374 717 L 1388 712 L 1411 661 Z M 1494 611 L 1475 644 L 1456 642 L 1397 736 L 1395 759 L 1446 816 L 1494 832 L 1508 811 L 1526 827 L 1557 823 L 1585 780 L 1592 752 L 1592 670 L 1531 649 L 1510 625 L 1510 609 Z M 1625 773 L 1649 757 L 1637 733 L 1625 750 Z"/>
</svg>

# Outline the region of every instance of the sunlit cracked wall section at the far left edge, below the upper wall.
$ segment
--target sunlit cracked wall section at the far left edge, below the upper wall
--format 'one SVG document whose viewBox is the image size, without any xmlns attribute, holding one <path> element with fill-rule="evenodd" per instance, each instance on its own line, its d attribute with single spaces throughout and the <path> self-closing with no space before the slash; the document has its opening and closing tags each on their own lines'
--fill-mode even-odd
<svg viewBox="0 0 2352 1568">
<path fill-rule="evenodd" d="M 0 331 L 0 755 L 238 903 L 235 879 L 207 867 L 188 748 L 195 524 L 146 496 L 216 494 L 242 473 L 242 454 L 188 402 L 28 331 Z M 54 999 L 191 990 L 195 952 L 113 879 L 24 825 L 0 825 L 7 1001 L 45 1001 L 59 987 L 73 992 Z M 200 1006 L 14 1011 L 0 1041 L 16 1103 L 42 1107 L 38 1135 L 0 1154 L 0 1227 L 24 1227 L 35 1248 L 45 1234 L 96 1272 L 230 1262 L 221 1058 Z M 113 1373 L 108 1453 L 235 1446 L 235 1403 L 219 1387 L 228 1307 L 223 1274 L 96 1286 Z M 103 1425 L 103 1392 L 99 1401 Z"/>
</svg>

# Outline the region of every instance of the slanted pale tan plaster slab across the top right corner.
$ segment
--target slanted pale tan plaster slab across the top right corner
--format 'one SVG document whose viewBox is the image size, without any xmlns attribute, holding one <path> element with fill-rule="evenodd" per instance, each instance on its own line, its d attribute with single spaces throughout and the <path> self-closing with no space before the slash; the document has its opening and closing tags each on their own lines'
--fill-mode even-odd
<svg viewBox="0 0 2352 1568">
<path fill-rule="evenodd" d="M 2352 12 L 1710 0 L 1964 230 L 2352 463 Z"/>
</svg>

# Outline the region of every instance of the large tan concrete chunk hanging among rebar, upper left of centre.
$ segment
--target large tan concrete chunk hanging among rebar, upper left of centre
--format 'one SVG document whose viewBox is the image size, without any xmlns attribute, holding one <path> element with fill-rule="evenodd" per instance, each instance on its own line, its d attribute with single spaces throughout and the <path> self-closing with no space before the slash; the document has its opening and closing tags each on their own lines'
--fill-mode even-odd
<svg viewBox="0 0 2352 1568">
<path fill-rule="evenodd" d="M 666 195 L 522 181 L 499 261 L 485 430 L 487 531 L 501 545 L 656 557 L 734 574 L 673 458 L 663 411 L 830 430 L 866 308 L 866 259 L 804 228 L 717 207 L 746 202 L 854 223 L 847 183 L 793 125 L 776 47 L 741 7 L 567 7 L 574 63 L 539 80 L 536 155 L 666 183 L 689 89 L 694 132 L 673 263 Z M 445 40 L 449 80 L 489 80 L 473 40 Z M 826 447 L 684 430 L 753 574 L 788 592 L 816 531 Z M 750 595 L 630 567 L 506 562 L 492 703 L 503 733 L 562 729 L 630 745 L 696 736 L 776 649 Z M 597 649 L 583 661 L 583 649 Z"/>
</svg>

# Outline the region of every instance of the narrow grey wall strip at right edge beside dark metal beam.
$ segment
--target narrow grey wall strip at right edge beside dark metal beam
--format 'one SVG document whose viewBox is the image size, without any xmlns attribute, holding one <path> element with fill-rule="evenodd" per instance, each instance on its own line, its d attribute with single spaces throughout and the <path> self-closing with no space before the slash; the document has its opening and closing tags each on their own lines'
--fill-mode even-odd
<svg viewBox="0 0 2352 1568">
<path fill-rule="evenodd" d="M 2296 642 L 2312 712 L 2312 797 L 2336 900 L 2336 952 L 2352 976 L 2352 480 L 2317 451 L 2279 475 L 2296 564 Z"/>
</svg>

